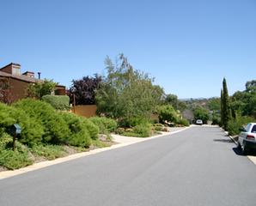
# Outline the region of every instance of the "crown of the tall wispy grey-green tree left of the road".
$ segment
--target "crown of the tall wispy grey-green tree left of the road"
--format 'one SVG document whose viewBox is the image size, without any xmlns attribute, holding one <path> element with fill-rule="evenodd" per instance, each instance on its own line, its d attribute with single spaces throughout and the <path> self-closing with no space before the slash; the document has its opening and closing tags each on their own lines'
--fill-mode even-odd
<svg viewBox="0 0 256 206">
<path fill-rule="evenodd" d="M 124 55 L 116 64 L 106 59 L 107 77 L 96 92 L 99 113 L 111 118 L 149 118 L 162 100 L 162 88 L 153 85 L 153 79 L 134 70 Z"/>
</svg>

